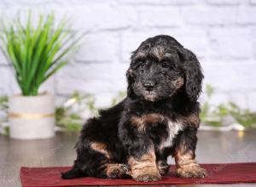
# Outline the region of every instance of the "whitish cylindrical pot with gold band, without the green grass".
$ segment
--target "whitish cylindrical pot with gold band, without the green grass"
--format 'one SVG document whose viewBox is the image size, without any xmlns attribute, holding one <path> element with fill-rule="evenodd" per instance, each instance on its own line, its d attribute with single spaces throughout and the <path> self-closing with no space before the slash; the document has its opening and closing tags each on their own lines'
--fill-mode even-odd
<svg viewBox="0 0 256 187">
<path fill-rule="evenodd" d="M 55 135 L 55 102 L 51 94 L 9 98 L 9 133 L 13 139 L 49 139 Z"/>
</svg>

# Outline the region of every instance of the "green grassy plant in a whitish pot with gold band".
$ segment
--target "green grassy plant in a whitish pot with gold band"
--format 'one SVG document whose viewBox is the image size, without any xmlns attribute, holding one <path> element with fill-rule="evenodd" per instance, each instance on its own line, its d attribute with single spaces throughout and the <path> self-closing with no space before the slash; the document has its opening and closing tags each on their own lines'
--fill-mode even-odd
<svg viewBox="0 0 256 187">
<path fill-rule="evenodd" d="M 65 19 L 54 26 L 54 14 L 40 14 L 36 26 L 31 13 L 27 17 L 25 26 L 19 16 L 8 26 L 2 23 L 0 33 L 1 51 L 21 90 L 9 97 L 9 133 L 15 139 L 47 139 L 55 135 L 54 96 L 38 89 L 67 64 L 67 54 L 83 35 L 68 32 Z"/>
</svg>

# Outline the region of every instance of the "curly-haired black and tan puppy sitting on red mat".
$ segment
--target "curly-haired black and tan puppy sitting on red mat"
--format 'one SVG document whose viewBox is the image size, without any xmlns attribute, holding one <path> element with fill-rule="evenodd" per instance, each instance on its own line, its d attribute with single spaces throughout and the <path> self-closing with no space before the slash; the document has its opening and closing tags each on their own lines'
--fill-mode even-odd
<svg viewBox="0 0 256 187">
<path fill-rule="evenodd" d="M 160 180 L 174 156 L 176 174 L 204 178 L 195 161 L 201 65 L 173 37 L 150 37 L 131 55 L 127 97 L 85 123 L 77 159 L 62 178 Z"/>
</svg>

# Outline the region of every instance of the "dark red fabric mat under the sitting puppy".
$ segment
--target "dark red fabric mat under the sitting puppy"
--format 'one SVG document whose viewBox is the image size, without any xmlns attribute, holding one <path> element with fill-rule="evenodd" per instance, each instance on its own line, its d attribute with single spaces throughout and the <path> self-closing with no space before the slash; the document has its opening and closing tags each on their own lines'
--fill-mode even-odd
<svg viewBox="0 0 256 187">
<path fill-rule="evenodd" d="M 81 185 L 127 185 L 127 184 L 233 184 L 256 183 L 256 162 L 229 164 L 201 164 L 207 169 L 207 178 L 176 178 L 173 169 L 160 181 L 142 183 L 132 179 L 77 178 L 61 179 L 61 172 L 70 167 L 21 167 L 20 178 L 23 187 L 81 186 Z"/>
</svg>

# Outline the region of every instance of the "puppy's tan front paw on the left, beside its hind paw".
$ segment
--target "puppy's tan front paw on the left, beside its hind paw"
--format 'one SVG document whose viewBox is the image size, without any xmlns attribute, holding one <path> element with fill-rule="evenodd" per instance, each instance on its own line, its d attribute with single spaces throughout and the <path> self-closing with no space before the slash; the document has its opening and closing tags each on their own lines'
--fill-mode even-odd
<svg viewBox="0 0 256 187">
<path fill-rule="evenodd" d="M 156 168 L 145 168 L 133 178 L 140 182 L 150 182 L 160 180 L 161 175 Z"/>
</svg>

